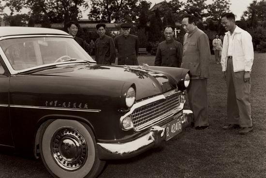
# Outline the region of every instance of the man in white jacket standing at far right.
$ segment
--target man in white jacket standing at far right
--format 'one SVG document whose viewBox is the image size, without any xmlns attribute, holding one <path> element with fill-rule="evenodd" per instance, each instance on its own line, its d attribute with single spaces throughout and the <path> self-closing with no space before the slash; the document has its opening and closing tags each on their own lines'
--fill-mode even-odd
<svg viewBox="0 0 266 178">
<path fill-rule="evenodd" d="M 227 30 L 222 45 L 222 71 L 227 85 L 227 125 L 223 129 L 240 127 L 239 134 L 250 132 L 251 67 L 254 59 L 251 35 L 236 26 L 233 13 L 222 14 L 222 26 Z"/>
</svg>

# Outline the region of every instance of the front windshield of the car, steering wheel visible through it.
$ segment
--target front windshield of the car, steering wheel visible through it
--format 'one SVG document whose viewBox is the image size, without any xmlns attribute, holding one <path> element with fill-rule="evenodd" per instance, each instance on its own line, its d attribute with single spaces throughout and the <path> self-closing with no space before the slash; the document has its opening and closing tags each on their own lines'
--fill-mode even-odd
<svg viewBox="0 0 266 178">
<path fill-rule="evenodd" d="M 0 41 L 0 46 L 15 70 L 25 70 L 76 59 L 93 61 L 72 38 L 13 38 Z"/>
</svg>

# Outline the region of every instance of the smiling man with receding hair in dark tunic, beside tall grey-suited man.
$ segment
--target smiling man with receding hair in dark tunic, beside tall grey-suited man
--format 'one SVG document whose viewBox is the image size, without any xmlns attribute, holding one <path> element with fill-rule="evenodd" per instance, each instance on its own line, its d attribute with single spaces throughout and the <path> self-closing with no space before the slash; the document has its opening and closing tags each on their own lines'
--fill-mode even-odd
<svg viewBox="0 0 266 178">
<path fill-rule="evenodd" d="M 155 66 L 180 68 L 183 56 L 182 44 L 174 40 L 174 27 L 166 26 L 164 28 L 165 41 L 158 46 Z"/>
</svg>

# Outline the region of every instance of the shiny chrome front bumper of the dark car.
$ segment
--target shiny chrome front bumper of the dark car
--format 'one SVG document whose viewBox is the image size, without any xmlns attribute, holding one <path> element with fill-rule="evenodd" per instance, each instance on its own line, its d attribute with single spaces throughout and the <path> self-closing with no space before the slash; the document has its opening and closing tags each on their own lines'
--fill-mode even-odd
<svg viewBox="0 0 266 178">
<path fill-rule="evenodd" d="M 188 127 L 193 119 L 191 110 L 183 110 L 180 117 L 182 128 Z M 134 157 L 165 140 L 164 128 L 152 126 L 149 133 L 126 143 L 97 143 L 100 159 L 125 159 Z"/>
</svg>

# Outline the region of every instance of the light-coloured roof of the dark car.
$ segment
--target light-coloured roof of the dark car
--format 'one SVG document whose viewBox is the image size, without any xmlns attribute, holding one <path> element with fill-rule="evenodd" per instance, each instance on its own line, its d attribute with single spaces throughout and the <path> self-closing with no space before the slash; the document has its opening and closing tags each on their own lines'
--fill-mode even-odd
<svg viewBox="0 0 266 178">
<path fill-rule="evenodd" d="M 16 35 L 68 35 L 68 33 L 53 28 L 42 27 L 0 27 L 0 37 Z"/>
</svg>

